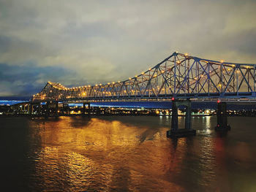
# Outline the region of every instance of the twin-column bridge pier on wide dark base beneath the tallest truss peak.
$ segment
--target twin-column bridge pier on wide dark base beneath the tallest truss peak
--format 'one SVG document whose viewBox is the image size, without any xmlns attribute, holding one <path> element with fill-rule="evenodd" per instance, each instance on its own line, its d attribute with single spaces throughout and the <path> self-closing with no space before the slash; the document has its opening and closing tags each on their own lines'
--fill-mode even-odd
<svg viewBox="0 0 256 192">
<path fill-rule="evenodd" d="M 186 107 L 185 128 L 178 128 L 178 106 Z M 195 135 L 195 130 L 191 128 L 191 101 L 173 100 L 172 126 L 167 131 L 167 137 L 187 137 Z"/>
</svg>

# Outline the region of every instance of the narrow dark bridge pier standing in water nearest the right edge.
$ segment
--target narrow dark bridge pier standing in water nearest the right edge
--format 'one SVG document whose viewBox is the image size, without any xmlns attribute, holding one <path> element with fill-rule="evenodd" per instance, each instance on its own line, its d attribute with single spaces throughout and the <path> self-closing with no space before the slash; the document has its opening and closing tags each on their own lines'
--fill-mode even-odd
<svg viewBox="0 0 256 192">
<path fill-rule="evenodd" d="M 230 126 L 227 124 L 227 103 L 225 101 L 218 101 L 217 109 L 217 126 L 216 131 L 229 131 Z"/>
</svg>

